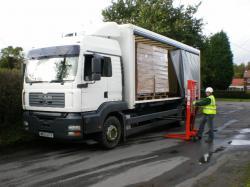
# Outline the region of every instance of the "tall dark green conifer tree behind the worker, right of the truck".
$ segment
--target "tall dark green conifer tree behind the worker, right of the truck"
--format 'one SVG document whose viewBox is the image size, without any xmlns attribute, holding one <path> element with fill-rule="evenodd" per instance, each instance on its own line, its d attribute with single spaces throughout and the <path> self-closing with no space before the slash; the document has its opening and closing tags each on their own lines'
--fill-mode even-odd
<svg viewBox="0 0 250 187">
<path fill-rule="evenodd" d="M 232 82 L 233 54 L 229 39 L 224 31 L 211 36 L 204 47 L 203 86 L 215 89 L 227 89 Z"/>
</svg>

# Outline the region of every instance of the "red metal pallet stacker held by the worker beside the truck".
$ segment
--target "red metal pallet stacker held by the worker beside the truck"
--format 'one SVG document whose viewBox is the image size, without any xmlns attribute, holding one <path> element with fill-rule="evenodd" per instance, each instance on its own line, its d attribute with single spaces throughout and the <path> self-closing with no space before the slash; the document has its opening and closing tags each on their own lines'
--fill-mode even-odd
<svg viewBox="0 0 250 187">
<path fill-rule="evenodd" d="M 186 129 L 184 134 L 166 134 L 166 138 L 178 138 L 183 140 L 191 140 L 192 137 L 197 136 L 197 130 L 194 128 L 196 108 L 192 106 L 194 100 L 198 99 L 199 93 L 197 89 L 197 82 L 188 80 L 187 82 L 187 97 L 186 97 Z"/>
</svg>

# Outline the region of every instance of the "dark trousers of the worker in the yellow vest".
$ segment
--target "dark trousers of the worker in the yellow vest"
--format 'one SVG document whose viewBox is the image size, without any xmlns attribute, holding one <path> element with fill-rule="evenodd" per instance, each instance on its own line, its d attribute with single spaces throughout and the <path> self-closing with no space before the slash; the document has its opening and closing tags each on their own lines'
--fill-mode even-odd
<svg viewBox="0 0 250 187">
<path fill-rule="evenodd" d="M 213 120 L 214 120 L 214 115 L 203 114 L 203 118 L 201 120 L 199 131 L 198 131 L 198 136 L 202 137 L 202 134 L 203 134 L 203 131 L 205 128 L 205 124 L 208 122 L 207 124 L 208 124 L 208 128 L 209 128 L 209 131 L 208 131 L 209 139 L 211 139 L 211 140 L 214 139 L 214 121 Z"/>
</svg>

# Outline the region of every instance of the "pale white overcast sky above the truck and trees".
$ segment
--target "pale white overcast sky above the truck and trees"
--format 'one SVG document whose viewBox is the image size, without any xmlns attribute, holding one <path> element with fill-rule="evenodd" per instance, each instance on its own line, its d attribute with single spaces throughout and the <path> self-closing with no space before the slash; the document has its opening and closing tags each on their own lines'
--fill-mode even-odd
<svg viewBox="0 0 250 187">
<path fill-rule="evenodd" d="M 234 63 L 250 61 L 249 0 L 175 0 L 175 5 L 202 2 L 197 18 L 204 33 L 221 30 L 230 40 Z M 1 0 L 0 48 L 32 47 L 60 39 L 62 34 L 88 30 L 102 23 L 101 11 L 111 0 Z"/>
</svg>

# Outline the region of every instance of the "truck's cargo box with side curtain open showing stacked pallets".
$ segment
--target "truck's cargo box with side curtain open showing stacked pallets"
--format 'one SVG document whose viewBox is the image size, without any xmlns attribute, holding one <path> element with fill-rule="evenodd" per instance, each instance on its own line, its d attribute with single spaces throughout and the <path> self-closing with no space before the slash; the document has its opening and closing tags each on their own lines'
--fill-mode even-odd
<svg viewBox="0 0 250 187">
<path fill-rule="evenodd" d="M 120 36 L 114 38 L 121 46 L 124 100 L 129 109 L 144 103 L 181 100 L 186 95 L 187 80 L 200 85 L 199 50 L 135 25 L 119 28 Z"/>
</svg>

